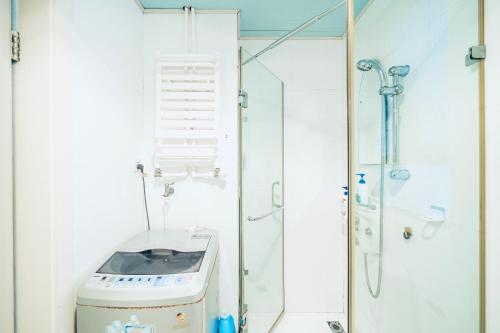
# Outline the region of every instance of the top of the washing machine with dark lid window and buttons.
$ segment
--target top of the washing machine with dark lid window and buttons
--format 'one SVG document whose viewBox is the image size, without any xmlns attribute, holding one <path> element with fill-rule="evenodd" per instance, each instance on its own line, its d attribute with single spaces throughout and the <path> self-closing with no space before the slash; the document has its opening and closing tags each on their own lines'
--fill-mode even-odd
<svg viewBox="0 0 500 333">
<path fill-rule="evenodd" d="M 78 305 L 147 307 L 200 301 L 218 255 L 209 229 L 141 233 L 122 244 L 83 284 Z"/>
</svg>

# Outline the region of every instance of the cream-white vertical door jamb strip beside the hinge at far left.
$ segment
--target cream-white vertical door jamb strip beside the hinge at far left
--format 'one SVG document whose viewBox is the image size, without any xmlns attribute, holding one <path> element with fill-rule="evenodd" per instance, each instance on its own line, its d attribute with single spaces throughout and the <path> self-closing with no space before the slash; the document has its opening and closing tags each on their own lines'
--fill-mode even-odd
<svg viewBox="0 0 500 333">
<path fill-rule="evenodd" d="M 20 333 L 55 331 L 50 135 L 52 44 L 47 42 L 52 33 L 51 12 L 46 0 L 20 3 L 23 61 L 16 65 L 14 88 L 16 310 Z M 36 254 L 43 255 L 33 260 Z"/>
</svg>

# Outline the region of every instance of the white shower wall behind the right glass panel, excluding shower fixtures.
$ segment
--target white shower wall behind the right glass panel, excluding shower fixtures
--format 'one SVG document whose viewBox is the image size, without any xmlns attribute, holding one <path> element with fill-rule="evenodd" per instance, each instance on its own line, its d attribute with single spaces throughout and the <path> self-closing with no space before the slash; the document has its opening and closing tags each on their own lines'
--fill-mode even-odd
<svg viewBox="0 0 500 333">
<path fill-rule="evenodd" d="M 386 70 L 411 66 L 400 108 L 401 164 L 411 178 L 385 181 L 382 292 L 376 300 L 367 292 L 362 247 L 356 248 L 358 333 L 478 329 L 478 66 L 464 64 L 467 48 L 477 44 L 476 18 L 476 1 L 375 0 L 356 24 L 356 61 L 377 58 Z M 378 87 L 372 89 L 377 95 Z M 358 170 L 374 172 L 367 182 L 378 196 L 379 167 Z M 431 204 L 447 209 L 444 223 L 422 219 Z M 361 246 L 369 226 L 361 218 Z M 409 241 L 402 237 L 405 227 L 413 229 Z M 378 256 L 368 257 L 375 287 Z"/>
</svg>

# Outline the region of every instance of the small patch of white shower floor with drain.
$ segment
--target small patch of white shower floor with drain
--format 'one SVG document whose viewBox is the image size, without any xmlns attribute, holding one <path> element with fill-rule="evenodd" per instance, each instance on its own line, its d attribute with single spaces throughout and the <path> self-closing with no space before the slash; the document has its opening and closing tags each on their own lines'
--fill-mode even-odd
<svg viewBox="0 0 500 333">
<path fill-rule="evenodd" d="M 336 320 L 346 329 L 342 313 L 286 313 L 273 333 L 331 333 L 326 322 Z"/>
</svg>

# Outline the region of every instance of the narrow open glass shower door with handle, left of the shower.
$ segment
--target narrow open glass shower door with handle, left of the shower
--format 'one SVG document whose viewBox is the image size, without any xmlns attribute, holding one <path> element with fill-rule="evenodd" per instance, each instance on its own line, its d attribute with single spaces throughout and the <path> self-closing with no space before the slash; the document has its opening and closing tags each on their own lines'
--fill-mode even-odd
<svg viewBox="0 0 500 333">
<path fill-rule="evenodd" d="M 249 57 L 242 50 L 242 62 Z M 249 333 L 267 333 L 284 308 L 283 83 L 258 60 L 241 80 L 243 303 Z"/>
</svg>

